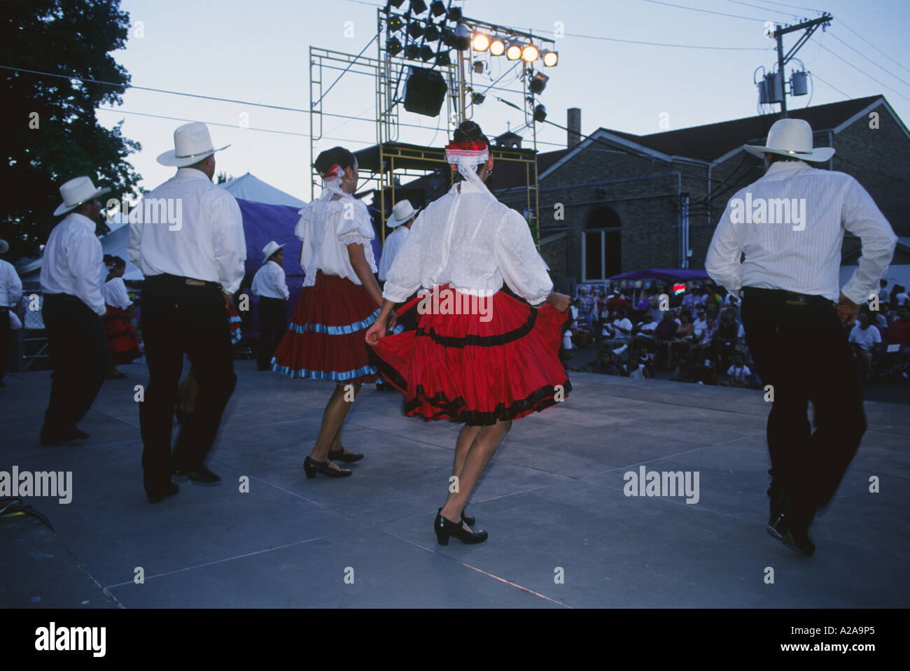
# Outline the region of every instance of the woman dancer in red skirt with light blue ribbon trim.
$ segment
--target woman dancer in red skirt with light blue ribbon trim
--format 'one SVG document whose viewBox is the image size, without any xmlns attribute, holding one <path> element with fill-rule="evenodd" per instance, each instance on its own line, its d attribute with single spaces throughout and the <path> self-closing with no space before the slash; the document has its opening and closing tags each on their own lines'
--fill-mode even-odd
<svg viewBox="0 0 910 671">
<path fill-rule="evenodd" d="M 360 385 L 378 378 L 376 367 L 369 364 L 364 333 L 379 314 L 382 294 L 373 275 L 369 212 L 351 195 L 357 189 L 357 160 L 338 146 L 322 152 L 314 167 L 322 175 L 322 195 L 300 210 L 295 231 L 303 242 L 303 291 L 275 349 L 272 369 L 336 383 L 303 467 L 307 477 L 342 477 L 351 471 L 329 459 L 363 458 L 341 445 L 341 427 Z"/>
</svg>

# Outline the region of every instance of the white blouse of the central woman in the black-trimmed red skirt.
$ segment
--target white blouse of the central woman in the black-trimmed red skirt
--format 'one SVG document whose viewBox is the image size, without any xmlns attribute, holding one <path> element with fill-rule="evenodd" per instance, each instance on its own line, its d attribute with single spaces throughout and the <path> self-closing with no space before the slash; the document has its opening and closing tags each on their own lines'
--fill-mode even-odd
<svg viewBox="0 0 910 671">
<path fill-rule="evenodd" d="M 446 284 L 492 295 L 503 280 L 531 305 L 543 303 L 553 290 L 524 217 L 465 181 L 418 215 L 382 295 L 401 303 L 421 286 Z"/>
</svg>

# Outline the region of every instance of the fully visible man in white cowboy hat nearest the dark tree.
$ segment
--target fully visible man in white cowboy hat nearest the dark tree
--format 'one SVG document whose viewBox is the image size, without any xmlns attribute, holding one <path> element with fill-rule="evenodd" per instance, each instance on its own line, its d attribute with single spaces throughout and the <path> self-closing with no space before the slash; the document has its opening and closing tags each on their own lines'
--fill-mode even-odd
<svg viewBox="0 0 910 671">
<path fill-rule="evenodd" d="M 41 316 L 54 369 L 42 445 L 88 437 L 76 422 L 86 415 L 105 380 L 108 354 L 101 317 L 106 306 L 98 285 L 102 251 L 95 229 L 102 210 L 98 196 L 108 191 L 96 188 L 86 176 L 60 187 L 63 203 L 54 215 L 69 214 L 51 231 L 41 261 Z"/>
</svg>

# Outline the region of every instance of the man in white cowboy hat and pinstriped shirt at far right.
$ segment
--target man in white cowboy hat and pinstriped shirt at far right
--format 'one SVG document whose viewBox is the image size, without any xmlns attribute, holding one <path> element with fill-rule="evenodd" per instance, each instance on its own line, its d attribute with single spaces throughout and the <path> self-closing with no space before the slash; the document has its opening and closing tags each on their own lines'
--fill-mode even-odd
<svg viewBox="0 0 910 671">
<path fill-rule="evenodd" d="M 746 343 L 763 383 L 773 389 L 768 533 L 812 555 L 809 526 L 834 496 L 866 427 L 843 323 L 877 291 L 896 237 L 853 177 L 807 163 L 829 160 L 834 148 L 814 148 L 805 121 L 781 119 L 764 146 L 743 148 L 763 157 L 767 171 L 733 195 L 704 267 L 742 297 Z M 844 231 L 860 238 L 863 252 L 841 287 Z M 806 416 L 810 400 L 814 433 Z"/>
</svg>

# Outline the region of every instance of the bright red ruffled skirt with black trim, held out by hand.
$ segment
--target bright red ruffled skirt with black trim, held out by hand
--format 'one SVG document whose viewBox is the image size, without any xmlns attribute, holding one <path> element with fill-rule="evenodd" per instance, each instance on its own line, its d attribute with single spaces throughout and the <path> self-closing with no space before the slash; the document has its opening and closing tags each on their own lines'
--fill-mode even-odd
<svg viewBox="0 0 910 671">
<path fill-rule="evenodd" d="M 445 292 L 455 298 L 448 307 Z M 502 291 L 486 305 L 446 286 L 434 293 L 398 310 L 399 320 L 420 313 L 416 330 L 387 335 L 373 348 L 379 373 L 405 395 L 408 415 L 490 426 L 569 395 L 559 359 L 567 313 L 531 307 Z M 454 305 L 462 314 L 451 314 Z"/>
</svg>

